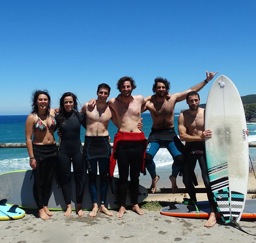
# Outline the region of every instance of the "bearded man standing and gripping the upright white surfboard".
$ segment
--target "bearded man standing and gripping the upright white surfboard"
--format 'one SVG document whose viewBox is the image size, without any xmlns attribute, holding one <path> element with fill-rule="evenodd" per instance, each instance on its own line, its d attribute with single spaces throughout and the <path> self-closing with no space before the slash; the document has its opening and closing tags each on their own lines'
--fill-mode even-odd
<svg viewBox="0 0 256 243">
<path fill-rule="evenodd" d="M 190 91 L 187 94 L 186 101 L 189 105 L 189 110 L 183 111 L 179 114 L 178 118 L 179 137 L 181 138 L 181 141 L 186 141 L 183 153 L 183 183 L 189 193 L 190 199 L 196 203 L 197 197 L 195 195 L 192 176 L 198 160 L 211 208 L 210 217 L 204 226 L 212 227 L 216 223 L 216 207 L 211 193 L 205 157 L 205 138 L 211 137 L 212 132 L 210 129 L 205 131 L 205 109 L 198 107 L 200 102 L 199 94 L 195 91 Z"/>
</svg>

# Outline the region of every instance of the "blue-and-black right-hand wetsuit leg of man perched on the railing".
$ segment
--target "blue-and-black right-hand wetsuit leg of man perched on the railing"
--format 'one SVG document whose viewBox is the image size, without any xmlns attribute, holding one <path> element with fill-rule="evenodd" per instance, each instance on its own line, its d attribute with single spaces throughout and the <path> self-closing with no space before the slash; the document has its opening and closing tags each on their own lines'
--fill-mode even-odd
<svg viewBox="0 0 256 243">
<path fill-rule="evenodd" d="M 177 142 L 167 142 L 166 148 L 173 157 L 172 176 L 177 178 L 183 165 L 182 147 Z"/>
</svg>

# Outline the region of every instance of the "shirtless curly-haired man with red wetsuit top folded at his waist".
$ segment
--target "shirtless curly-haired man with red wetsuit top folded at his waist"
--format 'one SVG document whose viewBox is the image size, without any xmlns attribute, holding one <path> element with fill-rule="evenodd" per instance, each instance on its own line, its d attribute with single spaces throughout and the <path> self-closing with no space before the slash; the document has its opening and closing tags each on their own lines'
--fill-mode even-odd
<svg viewBox="0 0 256 243">
<path fill-rule="evenodd" d="M 120 209 L 117 217 L 123 217 L 125 201 L 128 191 L 128 176 L 130 175 L 130 191 L 132 196 L 132 210 L 139 215 L 144 212 L 138 205 L 139 176 L 144 167 L 146 138 L 137 123 L 141 120 L 141 105 L 145 102 L 141 95 L 132 95 L 136 88 L 131 77 L 122 77 L 117 82 L 117 89 L 121 99 L 111 98 L 108 105 L 113 108 L 117 119 L 117 134 L 114 138 L 113 152 L 110 159 L 110 176 L 113 176 L 116 160 L 119 171 L 118 194 Z"/>
</svg>

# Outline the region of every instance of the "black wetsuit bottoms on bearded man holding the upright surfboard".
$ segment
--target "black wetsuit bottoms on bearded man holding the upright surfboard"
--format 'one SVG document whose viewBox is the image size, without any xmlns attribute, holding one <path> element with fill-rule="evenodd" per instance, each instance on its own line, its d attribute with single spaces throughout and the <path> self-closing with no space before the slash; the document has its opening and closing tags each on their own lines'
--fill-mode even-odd
<svg viewBox="0 0 256 243">
<path fill-rule="evenodd" d="M 216 211 L 214 199 L 212 196 L 210 181 L 207 174 L 206 157 L 205 157 L 205 142 L 186 142 L 184 150 L 184 161 L 182 168 L 183 183 L 189 193 L 190 199 L 197 201 L 195 187 L 193 184 L 193 175 L 195 165 L 199 162 L 202 171 L 203 183 L 206 187 L 207 198 L 211 206 L 211 212 Z"/>
</svg>

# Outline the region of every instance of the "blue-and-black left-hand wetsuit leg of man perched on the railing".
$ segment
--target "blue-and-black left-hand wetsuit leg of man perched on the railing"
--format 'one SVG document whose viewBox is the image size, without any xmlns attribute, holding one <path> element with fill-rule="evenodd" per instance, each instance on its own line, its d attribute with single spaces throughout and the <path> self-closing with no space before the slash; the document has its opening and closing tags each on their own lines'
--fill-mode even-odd
<svg viewBox="0 0 256 243">
<path fill-rule="evenodd" d="M 146 147 L 145 167 L 152 179 L 156 178 L 156 164 L 153 159 L 159 148 L 160 144 L 158 142 L 149 142 Z"/>
</svg>

